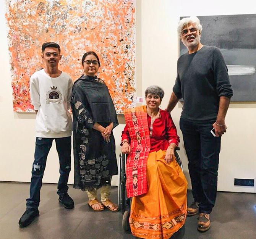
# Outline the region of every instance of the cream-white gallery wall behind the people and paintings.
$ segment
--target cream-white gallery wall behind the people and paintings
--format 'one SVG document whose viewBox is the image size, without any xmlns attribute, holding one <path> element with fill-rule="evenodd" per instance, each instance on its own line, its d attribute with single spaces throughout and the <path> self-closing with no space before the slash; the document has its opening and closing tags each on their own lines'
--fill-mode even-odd
<svg viewBox="0 0 256 239">
<path fill-rule="evenodd" d="M 147 86 L 157 84 L 165 90 L 161 108 L 167 106 L 176 77 L 178 59 L 177 24 L 180 16 L 255 14 L 254 0 L 240 3 L 198 0 L 137 0 L 136 1 L 136 78 L 137 96 Z M 204 27 L 204 26 L 203 26 Z M 11 72 L 4 1 L 0 1 L 0 181 L 29 182 L 35 146 L 35 113 L 14 113 L 12 106 Z M 202 32 L 204 34 L 204 31 Z M 232 39 L 230 39 L 232 40 Z M 203 43 L 203 42 L 202 42 Z M 204 43 L 203 43 L 204 44 Z M 189 181 L 187 158 L 179 129 L 181 103 L 172 111 L 172 118 L 181 138 L 180 157 Z M 256 192 L 254 187 L 234 186 L 234 178 L 256 179 L 256 102 L 231 103 L 222 137 L 219 163 L 219 191 Z M 114 129 L 117 155 L 120 153 L 120 135 L 125 126 L 118 116 L 119 126 Z M 73 157 L 72 157 L 73 161 Z M 53 143 L 43 182 L 58 182 L 58 156 Z M 73 162 L 69 183 L 73 183 Z M 117 176 L 113 178 L 117 185 Z M 24 192 L 27 193 L 28 192 Z"/>
</svg>

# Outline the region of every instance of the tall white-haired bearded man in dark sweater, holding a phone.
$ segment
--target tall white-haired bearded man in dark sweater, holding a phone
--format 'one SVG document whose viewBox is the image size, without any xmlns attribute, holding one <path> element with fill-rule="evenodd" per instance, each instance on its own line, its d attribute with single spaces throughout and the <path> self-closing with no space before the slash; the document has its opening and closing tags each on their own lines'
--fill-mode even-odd
<svg viewBox="0 0 256 239">
<path fill-rule="evenodd" d="M 178 59 L 167 111 L 172 111 L 183 98 L 180 129 L 194 197 L 188 216 L 199 212 L 198 230 L 206 231 L 211 226 L 209 214 L 217 193 L 220 136 L 227 129 L 225 115 L 233 91 L 220 50 L 201 44 L 201 32 L 197 17 L 183 18 L 178 24 L 178 34 L 188 52 Z"/>
</svg>

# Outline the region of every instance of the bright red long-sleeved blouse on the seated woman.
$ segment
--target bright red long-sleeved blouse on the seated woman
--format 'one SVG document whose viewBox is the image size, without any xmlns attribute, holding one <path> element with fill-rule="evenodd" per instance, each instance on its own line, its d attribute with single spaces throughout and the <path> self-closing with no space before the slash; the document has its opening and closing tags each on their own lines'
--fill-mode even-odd
<svg viewBox="0 0 256 239">
<path fill-rule="evenodd" d="M 177 129 L 172 121 L 170 114 L 159 109 L 159 118 L 151 118 L 147 115 L 147 124 L 150 133 L 150 152 L 158 150 L 167 150 L 170 143 L 176 144 L 178 146 L 180 138 L 177 135 Z M 153 122 L 151 122 L 153 120 Z M 128 140 L 130 143 L 130 136 L 128 132 L 128 126 L 126 125 L 122 132 L 122 142 L 123 140 Z"/>
</svg>

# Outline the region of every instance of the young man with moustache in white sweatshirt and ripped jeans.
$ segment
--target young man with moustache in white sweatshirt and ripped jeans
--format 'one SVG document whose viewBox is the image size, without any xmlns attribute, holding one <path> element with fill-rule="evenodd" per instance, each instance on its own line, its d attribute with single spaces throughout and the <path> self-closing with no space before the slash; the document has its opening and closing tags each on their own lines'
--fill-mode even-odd
<svg viewBox="0 0 256 239">
<path fill-rule="evenodd" d="M 36 216 L 40 202 L 40 189 L 47 155 L 55 139 L 60 161 L 58 181 L 59 201 L 65 208 L 74 208 L 74 201 L 68 195 L 68 176 L 71 163 L 72 119 L 68 112 L 73 82 L 70 76 L 58 69 L 61 60 L 60 46 L 54 42 L 42 45 L 45 68 L 30 78 L 31 103 L 36 111 L 36 149 L 32 166 L 30 197 L 27 209 L 19 220 L 21 227 L 28 226 Z"/>
</svg>

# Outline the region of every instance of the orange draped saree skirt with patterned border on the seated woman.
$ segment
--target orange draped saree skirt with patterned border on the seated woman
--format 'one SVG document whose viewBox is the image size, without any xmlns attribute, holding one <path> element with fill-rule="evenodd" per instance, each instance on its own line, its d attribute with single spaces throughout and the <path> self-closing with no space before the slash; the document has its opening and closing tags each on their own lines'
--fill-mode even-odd
<svg viewBox="0 0 256 239">
<path fill-rule="evenodd" d="M 149 153 L 146 194 L 132 198 L 130 226 L 140 238 L 170 238 L 185 223 L 187 182 L 176 161 L 165 163 L 165 151 Z"/>
</svg>

